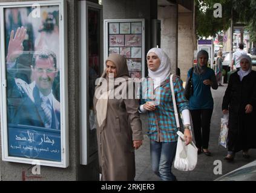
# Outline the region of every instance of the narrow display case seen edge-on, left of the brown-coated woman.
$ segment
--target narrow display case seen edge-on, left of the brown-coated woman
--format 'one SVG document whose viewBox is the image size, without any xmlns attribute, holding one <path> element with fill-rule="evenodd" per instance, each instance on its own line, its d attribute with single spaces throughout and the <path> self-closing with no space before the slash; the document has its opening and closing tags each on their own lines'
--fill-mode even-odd
<svg viewBox="0 0 256 193">
<path fill-rule="evenodd" d="M 96 79 L 102 74 L 102 5 L 79 1 L 80 59 L 80 163 L 97 158 L 96 119 L 93 96 Z"/>
</svg>

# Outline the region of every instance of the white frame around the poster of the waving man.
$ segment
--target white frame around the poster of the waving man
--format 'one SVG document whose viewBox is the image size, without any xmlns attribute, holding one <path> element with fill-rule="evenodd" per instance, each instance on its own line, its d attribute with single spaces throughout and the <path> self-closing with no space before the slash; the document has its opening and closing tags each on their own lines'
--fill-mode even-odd
<svg viewBox="0 0 256 193">
<path fill-rule="evenodd" d="M 60 73 L 60 96 L 61 96 L 61 153 L 60 160 L 32 159 L 30 157 L 10 156 L 8 147 L 8 124 L 7 124 L 7 76 L 5 63 L 5 8 L 59 6 L 59 73 Z M 4 2 L 0 3 L 0 62 L 1 64 L 1 143 L 2 160 L 7 162 L 27 163 L 32 165 L 53 166 L 67 168 L 69 166 L 68 148 L 68 71 L 67 71 L 67 1 L 27 1 L 27 2 Z"/>
</svg>

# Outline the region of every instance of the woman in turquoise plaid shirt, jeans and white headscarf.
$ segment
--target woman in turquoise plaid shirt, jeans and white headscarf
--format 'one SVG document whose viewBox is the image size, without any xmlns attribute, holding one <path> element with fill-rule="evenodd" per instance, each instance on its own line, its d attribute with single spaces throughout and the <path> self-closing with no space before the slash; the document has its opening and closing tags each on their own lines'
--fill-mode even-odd
<svg viewBox="0 0 256 193">
<path fill-rule="evenodd" d="M 170 86 L 171 62 L 160 48 L 152 48 L 146 55 L 148 77 L 140 88 L 140 112 L 148 113 L 148 136 L 150 139 L 151 163 L 155 174 L 165 181 L 177 180 L 171 172 L 177 147 L 177 127 Z M 188 101 L 182 81 L 173 77 L 177 106 L 183 116 L 186 145 L 192 141 L 189 130 Z"/>
</svg>

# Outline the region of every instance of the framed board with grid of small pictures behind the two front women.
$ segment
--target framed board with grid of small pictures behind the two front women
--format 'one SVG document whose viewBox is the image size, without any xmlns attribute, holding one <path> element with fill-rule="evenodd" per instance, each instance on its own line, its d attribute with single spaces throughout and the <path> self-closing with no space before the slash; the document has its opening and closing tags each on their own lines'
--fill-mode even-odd
<svg viewBox="0 0 256 193">
<path fill-rule="evenodd" d="M 131 78 L 144 77 L 145 19 L 105 19 L 104 59 L 111 53 L 126 58 Z"/>
</svg>

